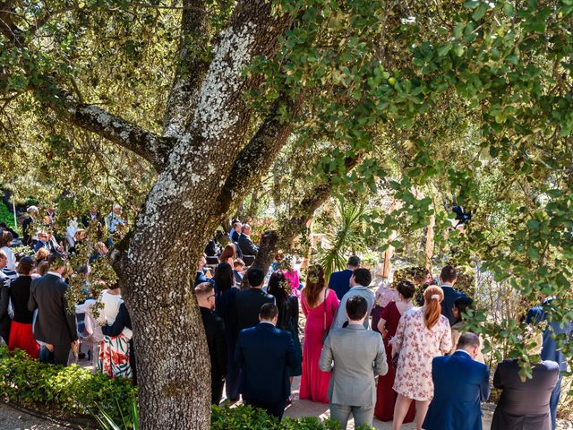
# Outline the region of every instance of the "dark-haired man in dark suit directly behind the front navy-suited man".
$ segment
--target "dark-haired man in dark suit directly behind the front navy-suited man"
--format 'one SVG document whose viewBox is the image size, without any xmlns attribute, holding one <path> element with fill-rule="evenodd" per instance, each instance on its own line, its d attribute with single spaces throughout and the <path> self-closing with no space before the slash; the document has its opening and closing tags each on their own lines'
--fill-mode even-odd
<svg viewBox="0 0 573 430">
<path fill-rule="evenodd" d="M 235 314 L 238 335 L 244 329 L 254 327 L 259 323 L 261 306 L 266 303 L 275 304 L 275 297 L 262 290 L 265 275 L 258 267 L 250 268 L 246 273 L 251 288 L 239 291 L 235 297 Z"/>
</svg>

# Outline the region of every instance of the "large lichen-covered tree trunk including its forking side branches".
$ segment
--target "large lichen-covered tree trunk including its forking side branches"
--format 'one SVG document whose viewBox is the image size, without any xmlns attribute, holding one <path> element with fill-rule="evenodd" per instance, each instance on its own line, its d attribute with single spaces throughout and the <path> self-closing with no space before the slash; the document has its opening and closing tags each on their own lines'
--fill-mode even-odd
<svg viewBox="0 0 573 430">
<path fill-rule="evenodd" d="M 193 44 L 209 46 L 208 2 L 183 3 L 162 135 L 75 99 L 62 82 L 22 62 L 38 103 L 68 125 L 133 150 L 158 172 L 130 234 L 112 251 L 132 316 L 142 430 L 210 428 L 210 361 L 192 288 L 195 266 L 213 230 L 270 167 L 292 128 L 285 113 L 294 116 L 302 102 L 280 94 L 257 126 L 244 97 L 264 78 L 245 67 L 275 55 L 292 16 L 272 13 L 267 0 L 238 0 L 212 56 L 204 56 Z M 10 5 L 0 9 L 2 42 L 25 50 Z"/>
</svg>

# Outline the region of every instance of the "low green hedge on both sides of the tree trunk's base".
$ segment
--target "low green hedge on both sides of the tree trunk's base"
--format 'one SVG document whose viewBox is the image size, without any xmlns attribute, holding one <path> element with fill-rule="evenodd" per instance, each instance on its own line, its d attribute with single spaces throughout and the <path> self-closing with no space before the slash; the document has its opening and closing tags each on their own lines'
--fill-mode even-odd
<svg viewBox="0 0 573 430">
<path fill-rule="evenodd" d="M 54 366 L 30 359 L 20 350 L 8 353 L 0 346 L 0 396 L 30 409 L 57 417 L 102 417 L 105 413 L 117 428 L 133 428 L 133 401 L 137 388 L 123 378 L 110 379 L 79 366 Z M 132 410 L 133 409 L 133 410 Z M 124 417 L 124 418 L 122 418 Z M 127 418 L 127 419 L 125 419 Z M 124 424 L 127 423 L 127 424 Z M 112 428 L 112 427 L 110 427 Z M 212 408 L 213 430 L 338 430 L 338 422 L 317 417 L 278 421 L 250 406 Z M 361 429 L 371 427 L 361 426 Z"/>
</svg>

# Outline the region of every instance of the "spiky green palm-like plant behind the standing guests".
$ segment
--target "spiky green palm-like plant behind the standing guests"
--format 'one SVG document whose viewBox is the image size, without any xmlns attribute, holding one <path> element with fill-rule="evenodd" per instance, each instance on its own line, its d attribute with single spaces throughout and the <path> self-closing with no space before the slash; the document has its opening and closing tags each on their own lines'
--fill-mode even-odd
<svg viewBox="0 0 573 430">
<path fill-rule="evenodd" d="M 363 228 L 365 211 L 366 208 L 362 203 L 353 204 L 338 198 L 334 224 L 325 234 L 330 247 L 321 248 L 317 259 L 324 268 L 325 279 L 328 280 L 333 271 L 344 269 L 347 254 L 365 249 Z"/>
</svg>

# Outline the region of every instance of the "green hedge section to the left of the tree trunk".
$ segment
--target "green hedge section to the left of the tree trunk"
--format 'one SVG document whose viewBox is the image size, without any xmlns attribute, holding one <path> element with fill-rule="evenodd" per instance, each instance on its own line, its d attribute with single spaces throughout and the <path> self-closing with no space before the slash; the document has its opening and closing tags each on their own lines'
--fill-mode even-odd
<svg viewBox="0 0 573 430">
<path fill-rule="evenodd" d="M 129 412 L 128 399 L 136 391 L 123 378 L 110 379 L 75 365 L 46 365 L 20 350 L 9 354 L 5 346 L 0 347 L 0 396 L 31 409 L 78 417 L 92 416 L 101 408 L 119 418 Z"/>
</svg>

